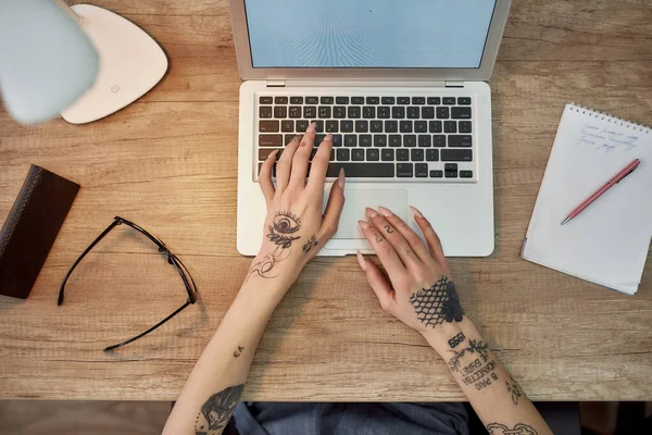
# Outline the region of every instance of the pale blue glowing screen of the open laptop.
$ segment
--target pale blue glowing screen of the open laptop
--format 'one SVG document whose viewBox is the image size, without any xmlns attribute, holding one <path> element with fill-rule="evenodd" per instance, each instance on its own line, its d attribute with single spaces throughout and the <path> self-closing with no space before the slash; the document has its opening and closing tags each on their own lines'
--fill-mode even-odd
<svg viewBox="0 0 652 435">
<path fill-rule="evenodd" d="M 253 67 L 477 69 L 496 0 L 244 0 Z"/>
</svg>

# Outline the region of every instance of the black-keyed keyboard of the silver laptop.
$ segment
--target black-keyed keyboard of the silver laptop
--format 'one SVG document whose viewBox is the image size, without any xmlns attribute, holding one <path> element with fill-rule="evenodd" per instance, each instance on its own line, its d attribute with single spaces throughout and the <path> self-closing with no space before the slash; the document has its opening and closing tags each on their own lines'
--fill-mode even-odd
<svg viewBox="0 0 652 435">
<path fill-rule="evenodd" d="M 258 169 L 316 123 L 313 156 L 333 134 L 328 177 L 472 181 L 472 97 L 259 96 Z"/>
</svg>

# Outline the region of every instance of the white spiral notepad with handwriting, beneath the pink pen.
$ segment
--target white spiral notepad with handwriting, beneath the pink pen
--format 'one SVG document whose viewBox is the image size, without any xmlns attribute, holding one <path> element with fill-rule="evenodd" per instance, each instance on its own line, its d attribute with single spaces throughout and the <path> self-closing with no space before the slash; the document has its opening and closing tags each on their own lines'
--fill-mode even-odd
<svg viewBox="0 0 652 435">
<path fill-rule="evenodd" d="M 634 159 L 639 167 L 566 225 L 580 202 Z M 652 129 L 566 104 L 522 257 L 634 295 L 652 238 Z"/>
</svg>

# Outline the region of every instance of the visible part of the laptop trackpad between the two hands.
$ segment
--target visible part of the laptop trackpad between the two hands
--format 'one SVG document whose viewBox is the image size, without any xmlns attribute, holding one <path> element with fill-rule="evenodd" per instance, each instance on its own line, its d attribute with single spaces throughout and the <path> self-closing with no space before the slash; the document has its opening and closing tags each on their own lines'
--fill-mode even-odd
<svg viewBox="0 0 652 435">
<path fill-rule="evenodd" d="M 347 189 L 344 191 L 347 201 L 342 210 L 339 228 L 333 238 L 364 238 L 359 220 L 365 220 L 364 209 L 371 207 L 376 209 L 383 206 L 391 210 L 402 220 L 408 217 L 408 191 L 403 189 L 375 190 L 375 189 Z M 324 196 L 324 208 L 328 200 L 328 194 Z"/>
</svg>

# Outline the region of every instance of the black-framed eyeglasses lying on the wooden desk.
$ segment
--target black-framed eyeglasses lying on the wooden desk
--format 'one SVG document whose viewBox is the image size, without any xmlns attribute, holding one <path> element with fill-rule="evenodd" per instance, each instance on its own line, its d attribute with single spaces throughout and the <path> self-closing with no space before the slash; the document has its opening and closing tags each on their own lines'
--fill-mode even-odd
<svg viewBox="0 0 652 435">
<path fill-rule="evenodd" d="M 120 216 L 115 216 L 113 219 L 113 222 L 111 223 L 111 225 L 109 225 L 109 227 L 106 227 L 106 229 L 104 229 L 102 232 L 102 234 L 100 234 L 98 236 L 98 238 L 96 238 L 92 244 L 90 244 L 88 246 L 88 248 L 86 248 L 86 250 L 84 252 L 82 252 L 82 254 L 79 256 L 79 258 L 77 260 L 75 260 L 75 262 L 73 263 L 73 265 L 71 266 L 71 269 L 68 270 L 68 272 L 65 274 L 65 277 L 63 278 L 63 283 L 61 283 L 61 289 L 59 290 L 59 300 L 57 301 L 57 304 L 60 306 L 63 303 L 63 291 L 65 289 L 65 283 L 67 282 L 67 279 L 70 278 L 71 274 L 73 273 L 73 271 L 75 270 L 75 268 L 77 266 L 77 264 L 79 264 L 79 262 L 84 259 L 84 257 L 86 257 L 86 254 L 88 252 L 90 252 L 90 250 L 101 240 L 103 239 L 109 233 L 111 233 L 111 231 L 113 228 L 115 228 L 118 225 L 127 225 L 134 229 L 136 229 L 137 232 L 143 234 L 147 238 L 149 238 L 151 241 L 153 241 L 158 247 L 159 247 L 159 252 L 164 252 L 165 256 L 167 257 L 167 262 L 172 265 L 174 265 L 174 268 L 177 270 L 177 272 L 179 273 L 179 275 L 181 275 L 181 279 L 184 281 L 184 285 L 186 286 L 186 291 L 188 293 L 188 300 L 186 300 L 186 303 L 184 303 L 181 307 L 179 307 L 177 310 L 175 310 L 172 314 L 170 314 L 168 316 L 166 316 L 165 319 L 163 319 L 161 322 L 156 323 L 154 326 L 150 327 L 149 330 L 147 330 L 143 333 L 138 334 L 137 336 L 129 338 L 128 340 L 124 340 L 122 343 L 118 343 L 117 345 L 113 345 L 113 346 L 109 346 L 106 348 L 104 348 L 104 351 L 108 350 L 112 350 L 125 345 L 128 345 L 129 343 L 136 341 L 138 338 L 146 336 L 147 334 L 151 333 L 152 331 L 154 331 L 155 328 L 158 328 L 159 326 L 161 326 L 162 324 L 164 324 L 165 322 L 167 322 L 168 320 L 171 320 L 172 318 L 174 318 L 175 315 L 177 315 L 179 312 L 181 312 L 186 307 L 188 307 L 191 303 L 197 302 L 197 300 L 199 299 L 199 293 L 197 291 L 197 286 L 195 285 L 195 281 L 192 279 L 192 276 L 190 276 L 190 273 L 188 272 L 188 269 L 186 269 L 186 266 L 184 265 L 184 263 L 181 263 L 181 260 L 179 260 L 179 258 L 177 256 L 175 256 L 174 253 L 172 253 L 170 251 L 170 249 L 167 249 L 167 247 L 165 246 L 165 244 L 163 241 L 161 241 L 161 239 L 159 239 L 156 236 L 154 236 L 153 234 L 151 234 L 150 232 L 148 232 L 147 229 L 136 225 L 133 222 L 127 221 L 126 219 L 120 217 Z"/>
</svg>

